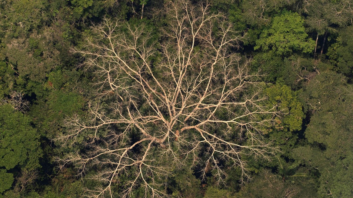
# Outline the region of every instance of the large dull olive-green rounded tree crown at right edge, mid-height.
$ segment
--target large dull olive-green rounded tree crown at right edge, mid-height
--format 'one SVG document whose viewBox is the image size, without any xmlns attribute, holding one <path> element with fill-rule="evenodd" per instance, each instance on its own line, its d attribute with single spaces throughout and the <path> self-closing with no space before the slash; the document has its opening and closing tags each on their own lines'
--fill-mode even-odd
<svg viewBox="0 0 353 198">
<path fill-rule="evenodd" d="M 342 76 L 324 72 L 310 82 L 303 97 L 314 112 L 305 131 L 308 141 L 323 144 L 326 151 L 332 149 L 329 158 L 345 156 L 353 143 L 348 124 L 353 116 L 352 86 L 346 85 Z"/>
</svg>

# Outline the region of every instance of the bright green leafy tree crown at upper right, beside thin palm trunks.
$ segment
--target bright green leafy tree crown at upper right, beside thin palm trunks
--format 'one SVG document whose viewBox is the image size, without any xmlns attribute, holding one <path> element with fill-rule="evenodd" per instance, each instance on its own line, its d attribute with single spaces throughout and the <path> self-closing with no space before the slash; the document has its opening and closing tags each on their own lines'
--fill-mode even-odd
<svg viewBox="0 0 353 198">
<path fill-rule="evenodd" d="M 261 33 L 254 50 L 273 50 L 279 56 L 288 56 L 293 52 L 310 54 L 315 42 L 307 37 L 304 20 L 299 14 L 283 11 L 281 15 L 274 17 L 271 26 Z"/>
</svg>

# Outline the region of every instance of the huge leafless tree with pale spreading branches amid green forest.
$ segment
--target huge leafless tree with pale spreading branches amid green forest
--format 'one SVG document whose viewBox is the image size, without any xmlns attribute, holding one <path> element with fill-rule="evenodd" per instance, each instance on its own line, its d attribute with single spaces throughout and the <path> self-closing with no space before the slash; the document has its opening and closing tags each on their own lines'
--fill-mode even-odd
<svg viewBox="0 0 353 198">
<path fill-rule="evenodd" d="M 59 159 L 79 174 L 101 181 L 92 197 L 164 197 L 172 171 L 189 166 L 212 170 L 223 182 L 225 165 L 239 166 L 243 155 L 266 156 L 271 147 L 262 131 L 276 115 L 265 104 L 249 60 L 232 52 L 242 37 L 209 4 L 170 1 L 168 24 L 158 29 L 104 19 L 94 25 L 83 48 L 84 67 L 96 73 L 97 101 L 90 119 L 73 117 L 55 140 L 83 142 L 85 152 Z M 104 104 L 101 104 L 104 101 Z"/>
</svg>

